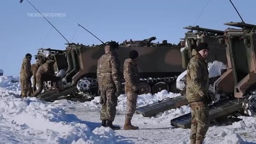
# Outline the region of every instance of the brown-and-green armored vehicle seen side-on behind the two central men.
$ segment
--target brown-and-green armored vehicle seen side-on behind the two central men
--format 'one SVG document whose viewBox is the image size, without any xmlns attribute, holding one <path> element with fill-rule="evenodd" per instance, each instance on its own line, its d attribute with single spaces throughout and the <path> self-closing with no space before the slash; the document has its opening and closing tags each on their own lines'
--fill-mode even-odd
<svg viewBox="0 0 256 144">
<path fill-rule="evenodd" d="M 156 37 L 150 37 L 143 41 L 124 41 L 117 51 L 121 61 L 121 73 L 123 73 L 123 63 L 128 58 L 129 51 L 138 51 L 140 57 L 137 62 L 141 76 L 140 94 L 157 93 L 164 89 L 175 91 L 175 80 L 185 70 L 182 68 L 180 56 L 180 49 L 185 46 L 185 43 L 180 42 L 175 45 L 167 43 L 166 40 L 163 43 L 152 43 L 151 41 L 155 39 Z M 67 45 L 65 51 L 39 49 L 37 57 L 40 64 L 42 65 L 48 57 L 55 59 L 55 73 L 66 80 L 67 90 L 65 91 L 67 93 L 63 91 L 62 95 L 71 92 L 73 95 L 78 93 L 97 95 L 97 61 L 104 54 L 104 45 L 86 46 L 75 43 L 68 43 Z M 122 82 L 124 86 L 124 80 Z M 50 100 L 61 96 L 59 93 L 53 93 L 53 91 L 51 93 L 52 95 L 49 92 L 42 93 L 39 98 Z"/>
</svg>

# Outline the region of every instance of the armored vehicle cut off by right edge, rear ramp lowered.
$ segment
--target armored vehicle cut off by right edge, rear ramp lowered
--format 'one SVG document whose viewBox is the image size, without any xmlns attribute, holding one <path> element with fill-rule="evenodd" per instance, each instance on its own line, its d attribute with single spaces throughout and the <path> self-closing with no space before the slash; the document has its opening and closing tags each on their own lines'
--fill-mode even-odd
<svg viewBox="0 0 256 144">
<path fill-rule="evenodd" d="M 256 115 L 256 25 L 228 22 L 220 43 L 226 44 L 228 69 L 214 83 L 220 100 L 210 106 L 210 120 L 230 115 Z M 171 125 L 189 128 L 191 115 L 171 120 Z"/>
</svg>

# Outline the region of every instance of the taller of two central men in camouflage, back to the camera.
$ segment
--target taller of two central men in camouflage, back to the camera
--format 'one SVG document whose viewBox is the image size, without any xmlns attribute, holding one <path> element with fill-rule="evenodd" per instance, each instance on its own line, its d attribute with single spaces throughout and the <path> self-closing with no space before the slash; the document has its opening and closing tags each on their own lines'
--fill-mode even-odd
<svg viewBox="0 0 256 144">
<path fill-rule="evenodd" d="M 105 46 L 105 54 L 98 60 L 97 68 L 102 126 L 109 126 L 113 130 L 120 129 L 112 124 L 116 116 L 117 97 L 121 94 L 120 62 L 115 50 L 118 46 L 115 42 Z"/>
</svg>

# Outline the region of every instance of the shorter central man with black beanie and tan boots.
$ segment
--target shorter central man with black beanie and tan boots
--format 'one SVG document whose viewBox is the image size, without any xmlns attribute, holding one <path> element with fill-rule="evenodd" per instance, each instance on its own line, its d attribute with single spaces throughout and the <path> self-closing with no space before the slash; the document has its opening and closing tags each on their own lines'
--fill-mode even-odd
<svg viewBox="0 0 256 144">
<path fill-rule="evenodd" d="M 136 60 L 139 54 L 137 51 L 132 50 L 129 53 L 129 59 L 124 61 L 124 79 L 125 79 L 125 94 L 126 94 L 126 112 L 124 130 L 137 130 L 138 126 L 131 124 L 132 116 L 136 110 L 138 98 L 138 83 L 140 81 L 139 71 L 137 68 Z"/>
</svg>

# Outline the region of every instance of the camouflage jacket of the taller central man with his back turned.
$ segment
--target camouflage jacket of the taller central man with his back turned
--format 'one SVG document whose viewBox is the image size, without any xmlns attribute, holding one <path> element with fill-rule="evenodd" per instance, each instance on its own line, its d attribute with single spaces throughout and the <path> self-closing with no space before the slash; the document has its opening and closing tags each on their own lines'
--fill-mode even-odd
<svg viewBox="0 0 256 144">
<path fill-rule="evenodd" d="M 121 86 L 120 61 L 115 52 L 107 52 L 100 57 L 97 67 L 97 79 L 99 86 Z"/>
</svg>

